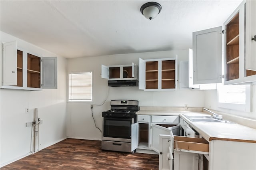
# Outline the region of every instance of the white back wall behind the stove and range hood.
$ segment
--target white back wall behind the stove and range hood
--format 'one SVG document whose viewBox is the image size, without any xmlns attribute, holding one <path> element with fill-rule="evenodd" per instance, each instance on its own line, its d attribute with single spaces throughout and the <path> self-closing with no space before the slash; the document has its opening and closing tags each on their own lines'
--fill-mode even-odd
<svg viewBox="0 0 256 170">
<path fill-rule="evenodd" d="M 101 64 L 124 65 L 134 62 L 138 65 L 139 58 L 170 58 L 176 57 L 176 54 L 178 55 L 178 66 L 179 61 L 188 61 L 188 50 L 106 55 L 68 59 L 68 71 L 93 72 L 93 103 L 101 104 L 108 96 L 104 105 L 94 106 L 93 109 L 96 125 L 101 128 L 102 111 L 110 109 L 110 100 L 112 99 L 138 100 L 140 106 L 184 107 L 184 104 L 188 104 L 188 107 L 203 107 L 204 91 L 180 90 L 179 86 L 176 91 L 142 91 L 138 87 L 108 87 L 107 80 L 100 76 Z M 68 103 L 68 137 L 101 139 L 100 131 L 94 127 L 90 106 L 91 103 Z"/>
</svg>

